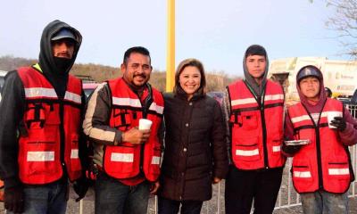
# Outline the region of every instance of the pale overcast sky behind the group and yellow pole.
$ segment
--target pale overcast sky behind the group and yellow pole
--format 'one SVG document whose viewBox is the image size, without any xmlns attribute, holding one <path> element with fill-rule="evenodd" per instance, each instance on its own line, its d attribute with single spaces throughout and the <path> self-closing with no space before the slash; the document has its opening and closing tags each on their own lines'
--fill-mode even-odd
<svg viewBox="0 0 357 214">
<path fill-rule="evenodd" d="M 166 69 L 167 0 L 12 0 L 1 8 L 0 56 L 37 59 L 42 30 L 58 19 L 83 36 L 77 62 L 119 67 L 130 46 L 143 45 L 154 68 Z M 349 60 L 325 27 L 331 9 L 322 0 L 176 0 L 176 64 L 194 57 L 206 70 L 242 75 L 252 44 L 270 60 Z"/>
</svg>

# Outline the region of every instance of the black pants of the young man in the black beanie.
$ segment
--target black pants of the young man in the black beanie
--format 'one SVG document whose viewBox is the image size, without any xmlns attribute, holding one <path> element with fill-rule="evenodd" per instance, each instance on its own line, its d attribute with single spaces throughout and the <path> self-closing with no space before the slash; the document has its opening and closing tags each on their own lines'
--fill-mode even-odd
<svg viewBox="0 0 357 214">
<path fill-rule="evenodd" d="M 283 169 L 238 170 L 230 166 L 226 178 L 226 213 L 249 214 L 254 199 L 254 214 L 273 212 Z"/>
</svg>

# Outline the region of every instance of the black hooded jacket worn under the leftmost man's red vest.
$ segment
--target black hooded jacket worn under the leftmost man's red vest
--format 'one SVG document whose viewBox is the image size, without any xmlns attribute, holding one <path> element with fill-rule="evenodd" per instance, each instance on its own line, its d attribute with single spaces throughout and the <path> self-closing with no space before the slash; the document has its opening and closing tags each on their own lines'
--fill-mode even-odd
<svg viewBox="0 0 357 214">
<path fill-rule="evenodd" d="M 49 82 L 54 86 L 54 90 L 59 97 L 63 97 L 65 93 L 68 81 L 68 71 L 71 70 L 71 66 L 76 59 L 75 56 L 79 51 L 80 45 L 79 43 L 75 47 L 72 63 L 68 70 L 62 72 L 62 75 L 58 75 L 58 72 L 60 71 L 56 68 L 54 63 L 51 37 L 62 28 L 71 29 L 72 32 L 80 38 L 79 41 L 81 41 L 81 36 L 77 30 L 73 30 L 73 28 L 62 21 L 52 21 L 47 25 L 46 29 L 44 29 L 39 54 L 41 70 Z M 85 95 L 82 92 L 83 110 L 85 103 Z M 21 135 L 21 120 L 26 111 L 25 105 L 25 91 L 21 78 L 16 70 L 11 71 L 7 73 L 5 77 L 4 86 L 2 88 L 2 100 L 0 103 L 0 177 L 4 179 L 5 188 L 21 185 L 18 165 L 18 136 Z M 83 167 L 86 168 L 87 146 L 83 134 L 80 135 L 79 146 L 79 158 L 82 161 Z"/>
</svg>

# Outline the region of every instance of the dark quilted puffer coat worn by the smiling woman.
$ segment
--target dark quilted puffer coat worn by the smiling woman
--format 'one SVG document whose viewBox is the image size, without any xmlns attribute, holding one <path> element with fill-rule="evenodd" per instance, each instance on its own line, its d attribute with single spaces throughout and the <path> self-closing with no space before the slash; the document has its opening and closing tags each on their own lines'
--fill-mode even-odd
<svg viewBox="0 0 357 214">
<path fill-rule="evenodd" d="M 183 201 L 212 198 L 213 177 L 228 170 L 227 144 L 220 104 L 206 95 L 164 95 L 166 126 L 162 197 Z"/>
</svg>

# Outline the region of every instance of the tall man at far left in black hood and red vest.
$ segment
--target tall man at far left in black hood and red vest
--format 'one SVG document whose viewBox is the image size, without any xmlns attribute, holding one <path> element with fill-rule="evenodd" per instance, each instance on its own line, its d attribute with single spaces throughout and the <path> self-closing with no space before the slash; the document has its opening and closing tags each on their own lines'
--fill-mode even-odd
<svg viewBox="0 0 357 214">
<path fill-rule="evenodd" d="M 44 29 L 38 63 L 9 72 L 0 103 L 0 173 L 8 213 L 65 213 L 68 179 L 83 198 L 85 96 L 69 75 L 82 37 L 62 21 Z"/>
</svg>

